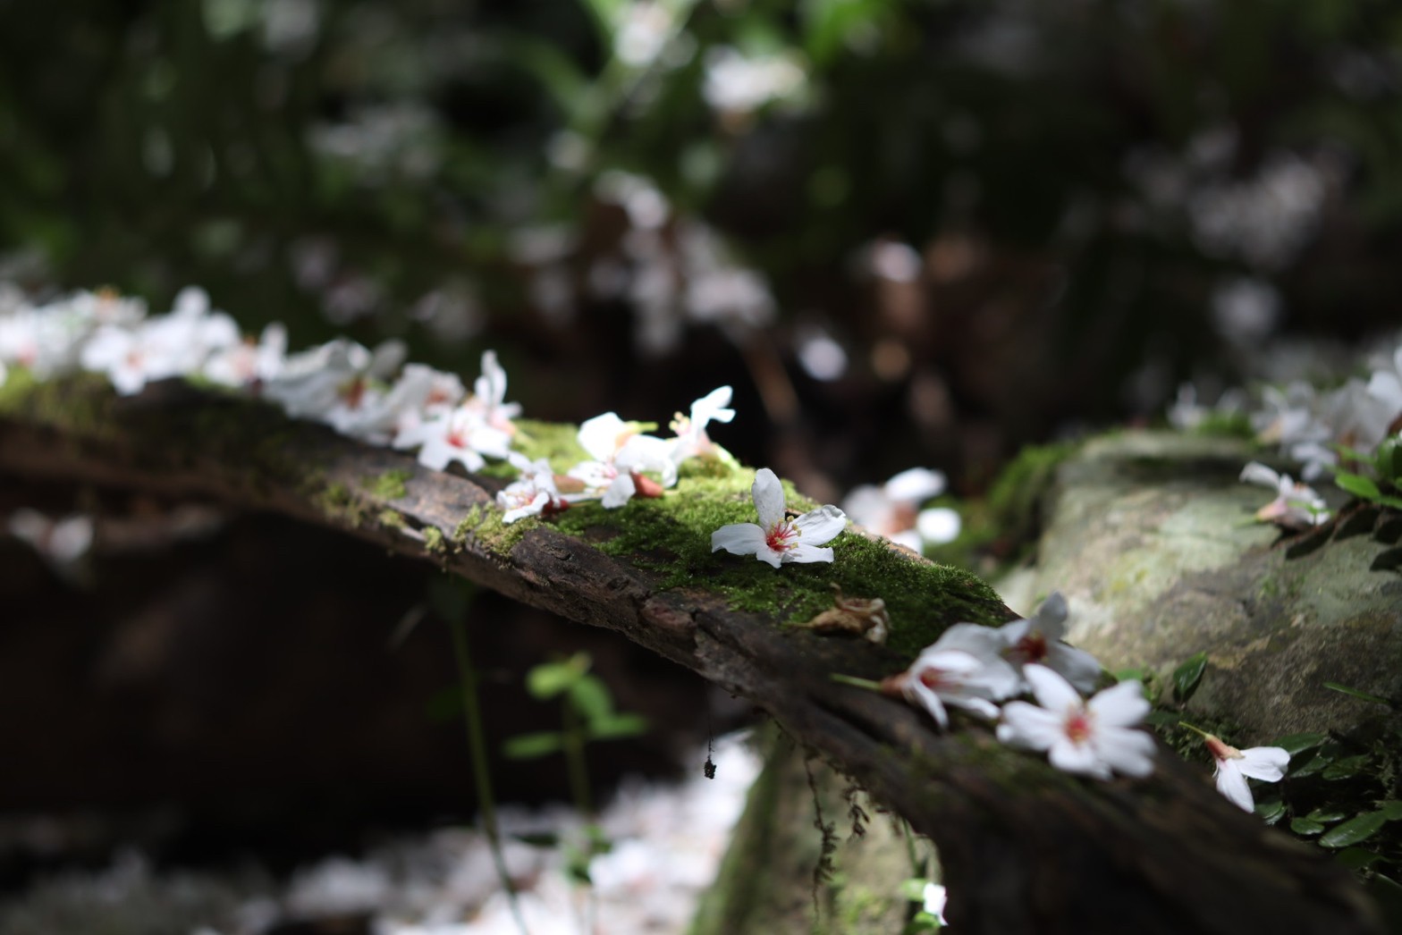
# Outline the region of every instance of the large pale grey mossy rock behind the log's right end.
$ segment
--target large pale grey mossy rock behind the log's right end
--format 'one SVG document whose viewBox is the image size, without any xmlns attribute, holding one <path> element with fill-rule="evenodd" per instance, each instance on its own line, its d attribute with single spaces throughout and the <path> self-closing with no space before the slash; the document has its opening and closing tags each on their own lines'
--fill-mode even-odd
<svg viewBox="0 0 1402 935">
<path fill-rule="evenodd" d="M 1110 670 L 1166 676 L 1206 650 L 1190 708 L 1239 723 L 1241 744 L 1356 728 L 1375 707 L 1323 683 L 1402 694 L 1402 576 L 1380 562 L 1395 547 L 1370 523 L 1305 535 L 1253 523 L 1270 491 L 1238 474 L 1260 457 L 1172 433 L 1087 444 L 1059 471 L 1036 565 L 1008 580 L 1008 604 L 1029 613 L 1060 590 L 1067 639 Z"/>
</svg>

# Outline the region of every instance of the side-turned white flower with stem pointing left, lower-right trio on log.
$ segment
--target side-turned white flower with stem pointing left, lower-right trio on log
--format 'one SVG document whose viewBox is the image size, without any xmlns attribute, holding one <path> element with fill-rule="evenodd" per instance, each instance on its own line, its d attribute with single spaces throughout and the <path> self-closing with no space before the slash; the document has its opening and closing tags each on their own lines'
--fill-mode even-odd
<svg viewBox="0 0 1402 935">
<path fill-rule="evenodd" d="M 882 691 L 899 692 L 918 704 L 941 728 L 949 726 L 945 705 L 972 711 L 990 721 L 998 716 L 1002 701 L 1015 694 L 1021 678 L 997 652 L 997 641 L 967 639 L 962 627 L 986 631 L 995 638 L 997 631 L 977 624 L 956 624 L 925 646 L 906 671 L 882 681 Z"/>
</svg>

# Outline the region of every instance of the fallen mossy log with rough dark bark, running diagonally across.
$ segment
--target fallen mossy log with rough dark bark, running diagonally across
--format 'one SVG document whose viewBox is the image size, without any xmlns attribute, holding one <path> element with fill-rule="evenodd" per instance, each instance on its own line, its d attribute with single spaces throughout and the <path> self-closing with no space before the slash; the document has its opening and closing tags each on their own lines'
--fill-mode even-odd
<svg viewBox="0 0 1402 935">
<path fill-rule="evenodd" d="M 833 673 L 899 671 L 949 624 L 1012 613 L 977 579 L 859 531 L 833 542 L 830 566 L 712 555 L 718 524 L 753 520 L 747 471 L 503 528 L 499 481 L 429 471 L 258 402 L 174 381 L 116 398 L 91 378 L 11 376 L 0 472 L 276 510 L 617 631 L 749 698 L 934 838 L 962 932 L 1381 931 L 1345 871 L 1237 810 L 1168 750 L 1150 779 L 1089 782 L 981 726 L 941 735 L 904 704 L 834 684 Z M 886 600 L 890 645 L 789 625 L 830 603 L 834 582 Z"/>
</svg>

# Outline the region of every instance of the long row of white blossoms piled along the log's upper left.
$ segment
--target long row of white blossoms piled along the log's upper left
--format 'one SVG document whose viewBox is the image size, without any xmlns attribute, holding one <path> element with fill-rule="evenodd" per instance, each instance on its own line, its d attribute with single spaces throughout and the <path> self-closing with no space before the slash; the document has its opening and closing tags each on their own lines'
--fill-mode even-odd
<svg viewBox="0 0 1402 935">
<path fill-rule="evenodd" d="M 435 471 L 454 463 L 479 471 L 488 458 L 505 460 L 520 472 L 498 495 L 508 523 L 579 500 L 614 509 L 634 496 L 659 496 L 677 482 L 681 461 L 729 458 L 707 435 L 711 422 L 735 418 L 730 387 L 719 387 L 697 400 L 690 415 L 677 414 L 667 439 L 645 435 L 614 412 L 586 421 L 579 444 L 589 457 L 557 477 L 545 461 L 512 449 L 520 405 L 506 402 L 506 371 L 495 352 L 482 353 L 471 391 L 456 374 L 407 364 L 405 355 L 400 341 L 370 349 L 346 338 L 289 355 L 280 324 L 257 341 L 244 339 L 196 287 L 182 290 L 160 315 L 107 292 L 45 306 L 15 303 L 0 313 L 0 385 L 7 364 L 38 378 L 102 373 L 122 395 L 156 380 L 193 377 L 269 400 L 293 418 L 367 444 L 418 450 L 419 464 Z"/>
</svg>

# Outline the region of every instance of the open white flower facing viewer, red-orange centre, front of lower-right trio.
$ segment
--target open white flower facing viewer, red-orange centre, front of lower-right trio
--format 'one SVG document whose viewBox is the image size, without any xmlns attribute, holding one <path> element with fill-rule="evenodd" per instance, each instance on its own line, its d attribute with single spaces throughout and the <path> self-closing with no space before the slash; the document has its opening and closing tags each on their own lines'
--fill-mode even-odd
<svg viewBox="0 0 1402 935">
<path fill-rule="evenodd" d="M 1040 707 L 1005 704 L 998 740 L 1046 750 L 1057 770 L 1096 779 L 1109 779 L 1112 771 L 1136 778 L 1154 771 L 1154 739 L 1133 729 L 1148 714 L 1140 683 L 1122 681 L 1082 701 L 1066 678 L 1046 666 L 1026 666 L 1022 676 Z"/>
</svg>

